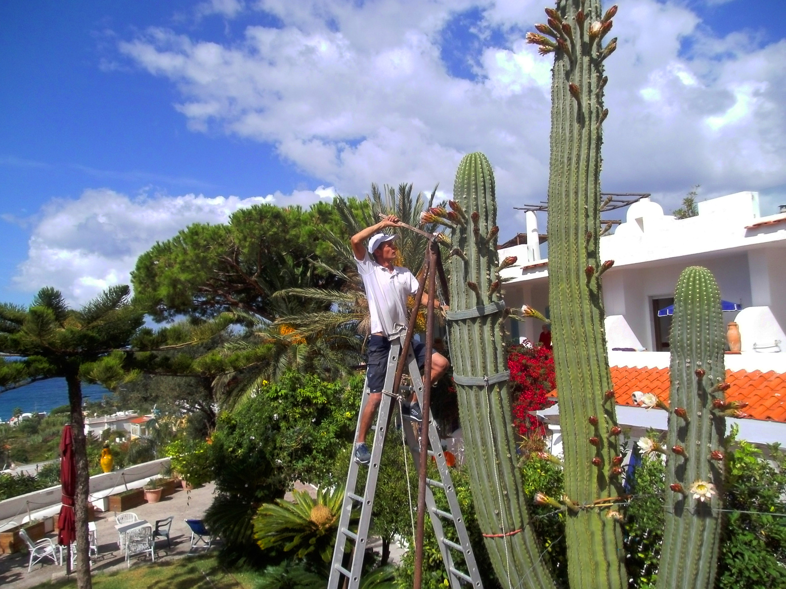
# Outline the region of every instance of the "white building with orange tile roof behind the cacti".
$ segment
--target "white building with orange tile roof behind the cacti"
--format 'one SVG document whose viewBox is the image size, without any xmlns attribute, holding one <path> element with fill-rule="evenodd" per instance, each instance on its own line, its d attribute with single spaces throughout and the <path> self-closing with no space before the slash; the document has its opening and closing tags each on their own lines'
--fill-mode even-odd
<svg viewBox="0 0 786 589">
<path fill-rule="evenodd" d="M 707 200 L 698 203 L 698 211 L 696 217 L 678 220 L 641 199 L 612 235 L 601 237 L 601 260 L 615 262 L 603 278 L 615 390 L 623 397 L 643 390 L 667 400 L 670 317 L 657 312 L 674 302 L 681 271 L 702 265 L 718 280 L 721 298 L 742 307 L 724 313 L 726 322 L 739 324 L 742 344 L 740 354 L 725 357 L 731 384 L 727 398 L 750 402 L 750 417 L 729 422 L 740 422 L 740 437 L 749 441 L 786 443 L 786 213 L 762 218 L 757 192 Z M 507 305 L 531 305 L 548 316 L 549 268 L 540 256 L 541 240 L 535 215 L 528 212 L 528 243 L 499 254 L 518 258 L 503 272 L 512 278 L 505 284 Z M 542 326 L 530 319 L 514 320 L 509 327 L 514 337 L 536 342 Z M 619 394 L 617 401 L 619 422 L 633 428 L 634 438 L 650 426 L 666 428 L 665 412 L 646 412 Z M 558 431 L 557 407 L 538 414 Z"/>
</svg>

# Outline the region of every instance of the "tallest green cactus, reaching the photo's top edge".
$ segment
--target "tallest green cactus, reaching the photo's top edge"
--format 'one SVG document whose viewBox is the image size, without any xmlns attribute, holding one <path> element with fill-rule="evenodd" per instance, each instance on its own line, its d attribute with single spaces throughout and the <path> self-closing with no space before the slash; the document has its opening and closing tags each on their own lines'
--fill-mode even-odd
<svg viewBox="0 0 786 589">
<path fill-rule="evenodd" d="M 549 305 L 556 384 L 560 392 L 565 492 L 570 510 L 565 535 L 572 589 L 627 587 L 623 538 L 615 510 L 588 507 L 619 496 L 615 401 L 608 368 L 600 276 L 601 124 L 603 46 L 616 7 L 600 0 L 558 0 L 548 24 L 527 40 L 555 53 L 549 162 Z M 608 393 L 607 393 L 608 391 Z M 607 502 L 608 504 L 609 502 Z"/>
</svg>

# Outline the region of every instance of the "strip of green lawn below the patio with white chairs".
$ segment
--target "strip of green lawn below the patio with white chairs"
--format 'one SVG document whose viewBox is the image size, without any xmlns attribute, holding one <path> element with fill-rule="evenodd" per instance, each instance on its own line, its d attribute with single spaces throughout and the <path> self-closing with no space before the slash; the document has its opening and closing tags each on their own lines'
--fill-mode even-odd
<svg viewBox="0 0 786 589">
<path fill-rule="evenodd" d="M 136 564 L 112 573 L 95 573 L 95 589 L 252 589 L 258 576 L 228 571 L 214 556 L 184 557 L 152 565 Z M 76 587 L 76 578 L 45 583 L 40 589 Z"/>
</svg>

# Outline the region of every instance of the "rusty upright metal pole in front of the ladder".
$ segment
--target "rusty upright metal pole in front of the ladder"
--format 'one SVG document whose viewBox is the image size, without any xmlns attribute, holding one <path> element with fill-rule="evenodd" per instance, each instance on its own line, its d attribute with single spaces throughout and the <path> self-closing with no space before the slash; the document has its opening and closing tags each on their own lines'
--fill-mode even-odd
<svg viewBox="0 0 786 589">
<path fill-rule="evenodd" d="M 428 469 L 429 412 L 432 403 L 432 352 L 434 347 L 434 297 L 436 292 L 437 252 L 435 240 L 428 244 L 428 305 L 426 305 L 426 362 L 423 370 L 423 395 L 421 398 L 421 463 L 418 465 L 417 524 L 415 525 L 415 574 L 413 589 L 421 589 L 423 581 L 423 529 L 426 511 L 426 470 Z M 435 449 L 436 452 L 436 449 Z"/>
</svg>

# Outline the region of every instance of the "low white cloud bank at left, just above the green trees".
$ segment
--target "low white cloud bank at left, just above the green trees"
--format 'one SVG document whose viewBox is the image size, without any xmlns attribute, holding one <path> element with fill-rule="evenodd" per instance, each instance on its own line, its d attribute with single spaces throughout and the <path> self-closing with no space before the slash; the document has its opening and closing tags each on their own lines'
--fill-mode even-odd
<svg viewBox="0 0 786 589">
<path fill-rule="evenodd" d="M 308 206 L 335 195 L 324 186 L 248 199 L 193 194 L 132 199 L 106 188 L 86 190 L 79 199 L 44 207 L 13 283 L 22 291 L 57 287 L 70 301 L 83 303 L 112 284 L 128 284 L 139 254 L 187 225 L 222 223 L 259 203 Z"/>
</svg>

